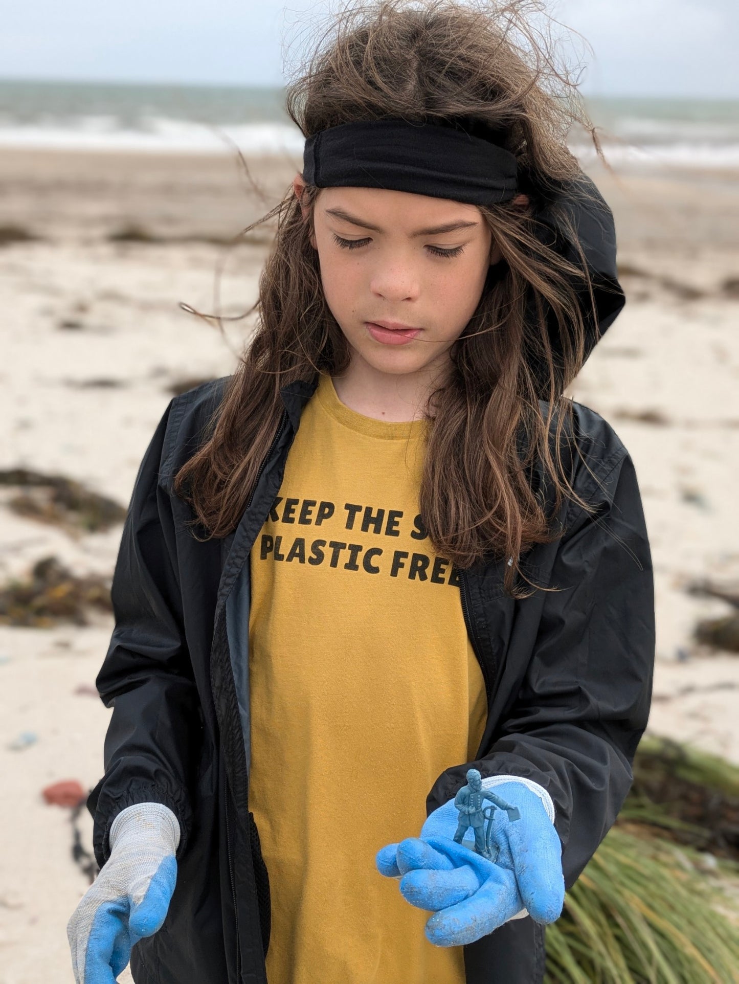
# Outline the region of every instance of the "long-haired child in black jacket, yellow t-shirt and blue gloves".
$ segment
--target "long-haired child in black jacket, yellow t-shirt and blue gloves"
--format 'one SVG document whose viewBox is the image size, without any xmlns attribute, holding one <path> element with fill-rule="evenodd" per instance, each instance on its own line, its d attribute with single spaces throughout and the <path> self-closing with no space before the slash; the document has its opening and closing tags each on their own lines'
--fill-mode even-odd
<svg viewBox="0 0 739 984">
<path fill-rule="evenodd" d="M 543 979 L 653 602 L 634 465 L 563 397 L 623 305 L 612 219 L 519 14 L 346 8 L 288 90 L 258 330 L 123 531 L 78 984 Z"/>
</svg>

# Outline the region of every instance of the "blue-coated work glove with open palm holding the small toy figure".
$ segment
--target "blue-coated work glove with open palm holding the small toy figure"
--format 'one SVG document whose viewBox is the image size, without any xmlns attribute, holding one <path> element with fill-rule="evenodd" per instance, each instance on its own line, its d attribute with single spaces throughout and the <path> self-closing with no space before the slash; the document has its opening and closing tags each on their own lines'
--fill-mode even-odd
<svg viewBox="0 0 739 984">
<path fill-rule="evenodd" d="M 420 837 L 387 844 L 377 853 L 380 874 L 399 878 L 400 892 L 411 905 L 435 913 L 425 932 L 437 947 L 474 943 L 526 914 L 550 923 L 562 912 L 562 844 L 554 829 L 551 797 L 538 783 L 508 775 L 489 776 L 482 788 L 491 789 L 521 814 L 511 821 L 505 810 L 495 811 L 495 864 L 465 846 L 473 841 L 454 841 L 463 816 L 454 800 L 429 815 Z"/>
</svg>

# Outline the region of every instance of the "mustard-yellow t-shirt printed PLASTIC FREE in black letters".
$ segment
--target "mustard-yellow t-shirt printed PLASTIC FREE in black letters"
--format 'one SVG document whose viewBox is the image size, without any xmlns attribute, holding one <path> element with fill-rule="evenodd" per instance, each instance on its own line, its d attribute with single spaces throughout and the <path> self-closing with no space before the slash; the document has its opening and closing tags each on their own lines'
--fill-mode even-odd
<svg viewBox="0 0 739 984">
<path fill-rule="evenodd" d="M 463 984 L 462 947 L 377 871 L 417 836 L 487 714 L 452 565 L 418 516 L 425 420 L 305 406 L 251 551 L 249 803 L 272 890 L 270 984 Z"/>
</svg>

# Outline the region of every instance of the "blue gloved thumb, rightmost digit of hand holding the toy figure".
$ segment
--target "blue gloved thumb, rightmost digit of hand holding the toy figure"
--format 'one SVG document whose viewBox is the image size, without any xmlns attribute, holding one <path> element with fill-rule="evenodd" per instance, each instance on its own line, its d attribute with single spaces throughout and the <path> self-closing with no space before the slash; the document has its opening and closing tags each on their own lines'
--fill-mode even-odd
<svg viewBox="0 0 739 984">
<path fill-rule="evenodd" d="M 550 825 L 537 830 L 535 837 L 527 837 L 511 830 L 509 840 L 516 880 L 528 914 L 539 923 L 554 922 L 565 903 L 562 842 L 557 831 Z"/>
</svg>

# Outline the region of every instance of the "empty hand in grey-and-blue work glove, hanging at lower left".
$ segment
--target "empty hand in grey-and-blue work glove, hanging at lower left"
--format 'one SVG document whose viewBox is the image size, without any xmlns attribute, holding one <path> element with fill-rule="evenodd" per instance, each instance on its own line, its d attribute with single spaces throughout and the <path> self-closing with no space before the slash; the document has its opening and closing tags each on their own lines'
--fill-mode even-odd
<svg viewBox="0 0 739 984">
<path fill-rule="evenodd" d="M 134 944 L 164 922 L 179 841 L 177 818 L 161 803 L 130 806 L 115 818 L 110 857 L 67 924 L 77 984 L 115 984 Z"/>
</svg>

